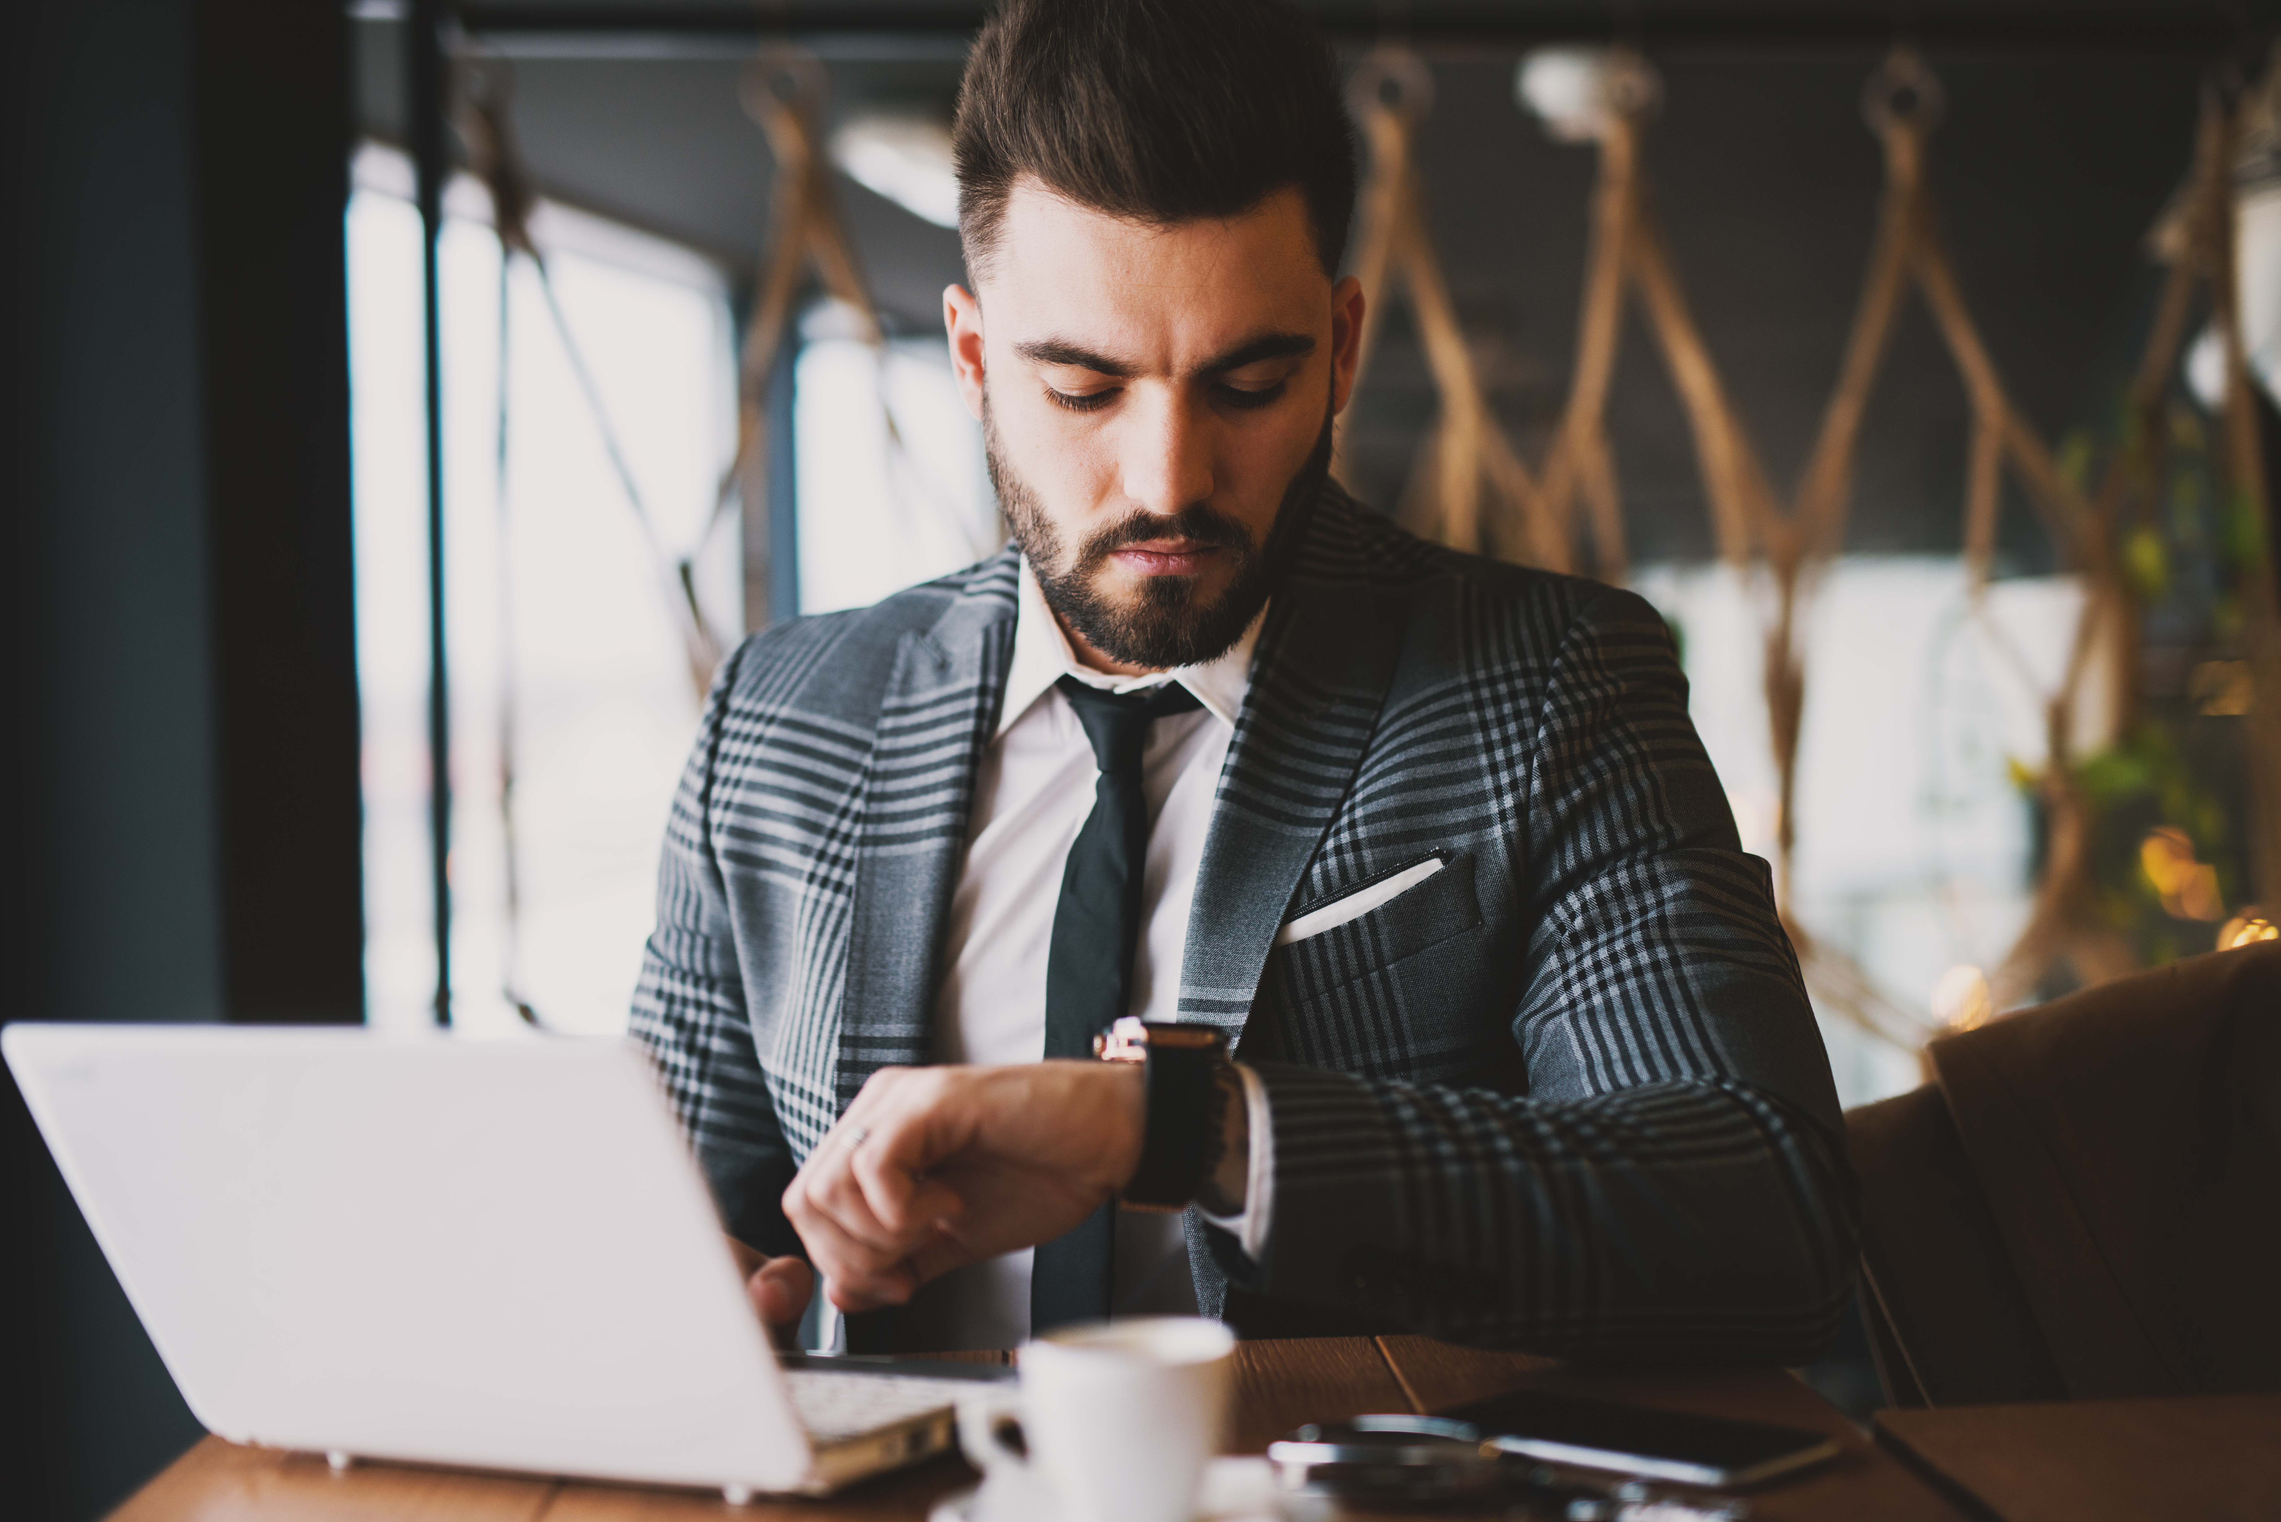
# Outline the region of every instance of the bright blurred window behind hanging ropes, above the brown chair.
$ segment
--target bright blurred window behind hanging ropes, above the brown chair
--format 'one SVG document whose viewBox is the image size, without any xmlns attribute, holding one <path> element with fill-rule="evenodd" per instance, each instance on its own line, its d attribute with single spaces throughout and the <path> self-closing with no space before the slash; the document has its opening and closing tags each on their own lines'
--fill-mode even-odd
<svg viewBox="0 0 2281 1522">
<path fill-rule="evenodd" d="M 1688 710 L 1743 849 L 1772 860 L 1752 589 L 1727 566 L 1645 566 L 1633 586 L 1679 628 Z M 1809 605 L 1791 913 L 1909 1015 L 1930 1022 L 1941 977 L 1991 970 L 2026 924 L 2032 812 L 2007 762 L 2044 764 L 2041 694 L 2080 605 L 2073 577 L 2021 577 L 1991 582 L 1975 614 L 1962 561 L 1937 554 L 1843 557 Z M 1818 1013 L 1845 1104 L 1923 1082 L 1914 1052 Z"/>
</svg>

